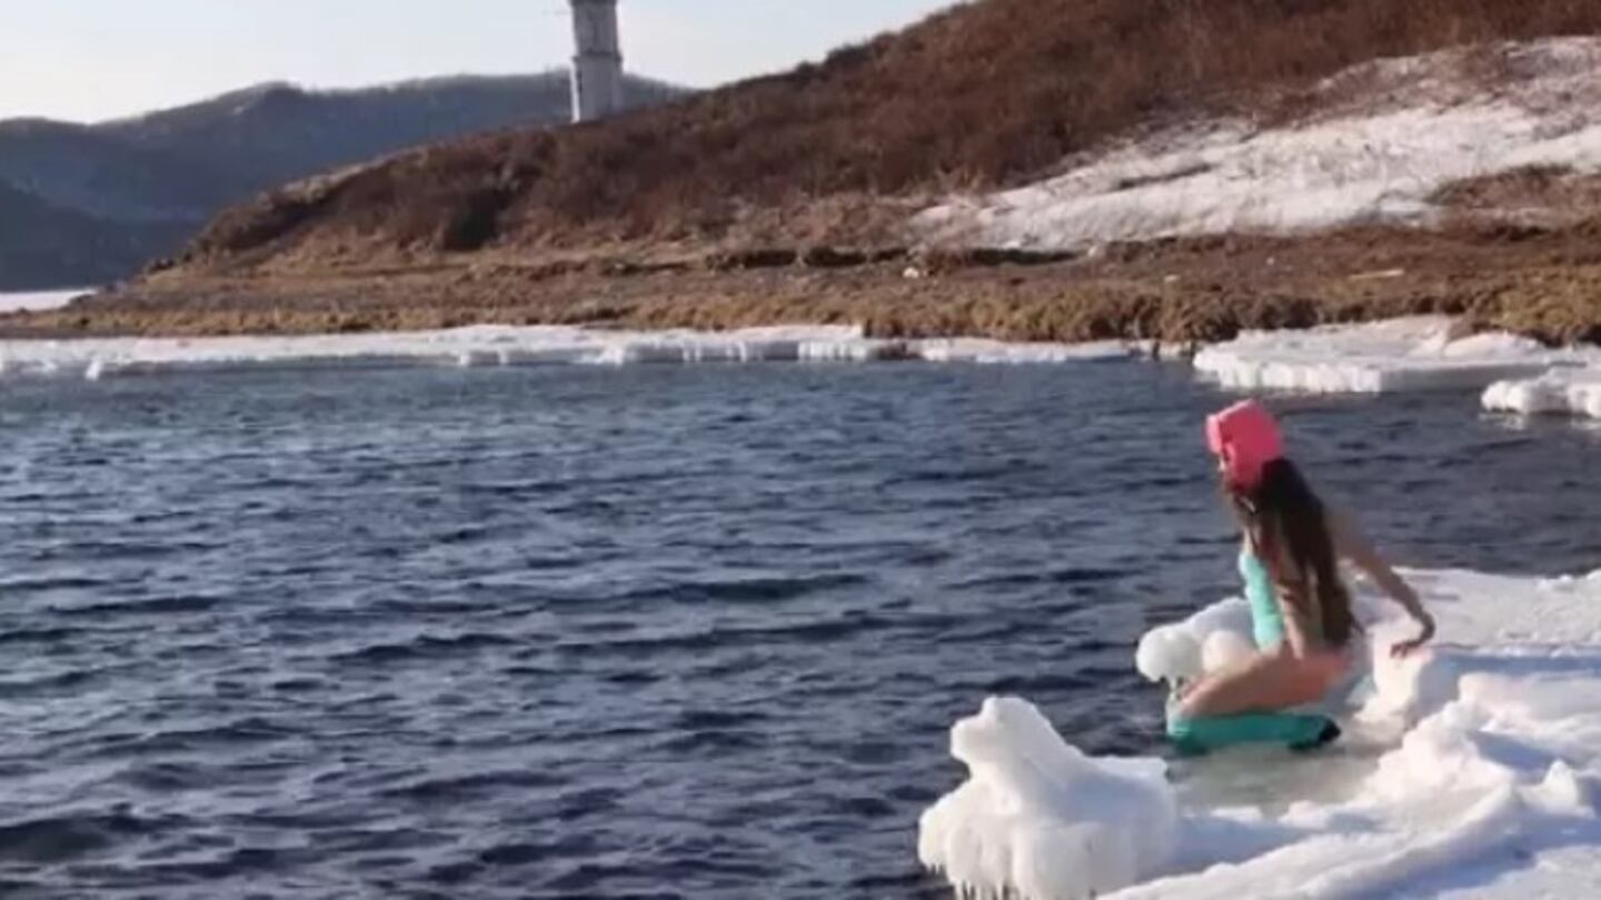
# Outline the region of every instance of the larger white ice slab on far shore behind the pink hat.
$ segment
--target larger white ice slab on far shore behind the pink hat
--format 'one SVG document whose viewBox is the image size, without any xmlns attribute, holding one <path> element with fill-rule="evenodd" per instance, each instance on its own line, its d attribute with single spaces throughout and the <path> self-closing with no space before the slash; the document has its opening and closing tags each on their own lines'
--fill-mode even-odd
<svg viewBox="0 0 1601 900">
<path fill-rule="evenodd" d="M 1507 333 L 1452 340 L 1451 325 L 1444 315 L 1417 315 L 1305 331 L 1246 331 L 1202 349 L 1194 365 L 1238 391 L 1382 394 L 1479 391 L 1499 380 L 1601 362 L 1593 348 L 1553 351 Z"/>
</svg>

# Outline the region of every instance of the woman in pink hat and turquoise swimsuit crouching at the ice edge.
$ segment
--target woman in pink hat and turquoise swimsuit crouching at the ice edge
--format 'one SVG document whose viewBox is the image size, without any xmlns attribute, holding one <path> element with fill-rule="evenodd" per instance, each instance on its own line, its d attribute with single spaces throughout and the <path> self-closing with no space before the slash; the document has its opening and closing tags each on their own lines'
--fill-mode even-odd
<svg viewBox="0 0 1601 900">
<path fill-rule="evenodd" d="M 1258 652 L 1190 685 L 1180 698 L 1182 716 L 1266 713 L 1324 700 L 1346 677 L 1361 629 L 1338 559 L 1366 572 L 1422 628 L 1418 637 L 1391 647 L 1393 655 L 1404 657 L 1434 636 L 1434 620 L 1412 588 L 1284 458 L 1279 428 L 1262 405 L 1236 404 L 1207 418 L 1206 431 L 1244 532 L 1239 570 Z"/>
</svg>

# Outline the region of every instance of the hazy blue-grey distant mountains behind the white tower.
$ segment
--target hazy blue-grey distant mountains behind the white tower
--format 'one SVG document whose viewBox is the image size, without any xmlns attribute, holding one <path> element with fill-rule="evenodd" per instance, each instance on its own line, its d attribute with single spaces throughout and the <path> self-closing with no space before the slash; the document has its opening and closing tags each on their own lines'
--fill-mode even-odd
<svg viewBox="0 0 1601 900">
<path fill-rule="evenodd" d="M 395 151 L 570 117 L 564 72 L 351 91 L 269 83 L 134 119 L 0 122 L 0 290 L 82 285 L 176 251 L 219 208 Z M 684 91 L 631 78 L 647 106 Z"/>
</svg>

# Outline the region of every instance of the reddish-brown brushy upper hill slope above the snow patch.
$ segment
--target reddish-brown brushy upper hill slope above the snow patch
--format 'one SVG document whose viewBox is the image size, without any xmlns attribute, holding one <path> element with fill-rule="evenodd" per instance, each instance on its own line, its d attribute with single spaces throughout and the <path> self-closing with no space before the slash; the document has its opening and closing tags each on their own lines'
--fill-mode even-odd
<svg viewBox="0 0 1601 900">
<path fill-rule="evenodd" d="M 458 141 L 288 191 L 213 221 L 192 261 L 315 269 L 783 239 L 818 199 L 1020 183 L 1198 110 L 1294 114 L 1300 85 L 1377 56 L 1595 30 L 1601 5 L 1585 0 L 981 0 L 671 107 Z"/>
</svg>

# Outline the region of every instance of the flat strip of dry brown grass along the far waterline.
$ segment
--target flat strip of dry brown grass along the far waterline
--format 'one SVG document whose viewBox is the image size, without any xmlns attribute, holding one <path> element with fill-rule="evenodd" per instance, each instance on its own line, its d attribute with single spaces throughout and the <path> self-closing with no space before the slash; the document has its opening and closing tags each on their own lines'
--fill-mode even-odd
<svg viewBox="0 0 1601 900">
<path fill-rule="evenodd" d="M 463 325 L 725 331 L 858 325 L 869 338 L 1201 344 L 1246 330 L 1418 314 L 1545 344 L 1601 343 L 1601 221 L 1343 229 L 1017 250 L 701 248 L 439 256 L 391 266 L 154 272 L 0 336 L 224 336 Z"/>
</svg>

